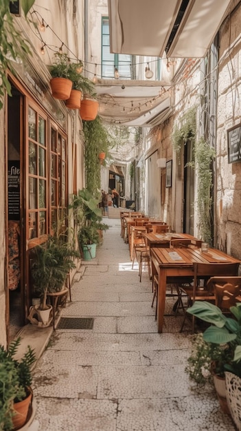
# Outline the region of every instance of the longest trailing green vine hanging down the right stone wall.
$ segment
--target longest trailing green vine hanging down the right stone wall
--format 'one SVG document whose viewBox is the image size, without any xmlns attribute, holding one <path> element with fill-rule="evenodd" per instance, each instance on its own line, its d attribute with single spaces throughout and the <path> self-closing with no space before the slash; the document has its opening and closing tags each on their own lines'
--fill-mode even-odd
<svg viewBox="0 0 241 431">
<path fill-rule="evenodd" d="M 199 231 L 203 241 L 209 244 L 211 244 L 211 189 L 213 187 L 211 162 L 215 156 L 214 148 L 204 138 L 200 138 L 194 147 L 195 160 L 187 164 L 193 168 L 196 167 Z"/>
</svg>

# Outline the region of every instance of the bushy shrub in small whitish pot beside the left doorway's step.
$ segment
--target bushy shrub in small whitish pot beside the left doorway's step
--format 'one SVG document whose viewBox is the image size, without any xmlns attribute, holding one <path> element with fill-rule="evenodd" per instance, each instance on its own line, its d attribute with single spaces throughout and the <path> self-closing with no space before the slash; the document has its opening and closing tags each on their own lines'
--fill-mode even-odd
<svg viewBox="0 0 241 431">
<path fill-rule="evenodd" d="M 52 235 L 49 235 L 44 244 L 37 245 L 32 251 L 31 275 L 34 291 L 41 298 L 41 304 L 34 308 L 44 326 L 49 324 L 51 311 L 51 306 L 47 304 L 47 293 L 62 290 L 67 274 L 76 267 L 73 257 L 79 257 L 78 251 L 61 237 Z M 31 311 L 33 313 L 33 309 Z"/>
</svg>

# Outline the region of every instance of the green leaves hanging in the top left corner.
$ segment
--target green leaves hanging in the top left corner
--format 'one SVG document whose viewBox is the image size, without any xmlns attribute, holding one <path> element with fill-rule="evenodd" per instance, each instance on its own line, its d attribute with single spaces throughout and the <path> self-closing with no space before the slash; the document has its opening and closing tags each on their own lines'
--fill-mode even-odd
<svg viewBox="0 0 241 431">
<path fill-rule="evenodd" d="M 30 10 L 34 0 L 22 0 L 22 7 L 25 12 Z M 15 29 L 14 19 L 10 13 L 10 1 L 1 0 L 0 2 L 0 109 L 3 107 L 5 91 L 12 96 L 11 85 L 6 76 L 9 69 L 15 74 L 14 67 L 10 59 L 14 61 L 24 61 L 25 55 L 31 54 L 30 46 L 23 38 L 23 35 Z"/>
</svg>

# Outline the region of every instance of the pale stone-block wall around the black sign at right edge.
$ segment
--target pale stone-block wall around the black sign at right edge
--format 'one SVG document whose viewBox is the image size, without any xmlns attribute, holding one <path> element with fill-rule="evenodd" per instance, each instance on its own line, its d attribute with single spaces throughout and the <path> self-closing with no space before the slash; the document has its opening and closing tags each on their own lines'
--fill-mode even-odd
<svg viewBox="0 0 241 431">
<path fill-rule="evenodd" d="M 220 249 L 241 258 L 241 162 L 229 164 L 227 129 L 241 116 L 241 8 L 220 29 L 216 145 L 216 242 Z"/>
</svg>

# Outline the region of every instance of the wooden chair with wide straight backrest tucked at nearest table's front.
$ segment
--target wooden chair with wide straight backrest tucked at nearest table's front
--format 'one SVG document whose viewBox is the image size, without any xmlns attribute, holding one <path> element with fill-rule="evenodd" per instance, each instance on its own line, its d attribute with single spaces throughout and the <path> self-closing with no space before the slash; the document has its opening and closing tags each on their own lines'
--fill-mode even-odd
<svg viewBox="0 0 241 431">
<path fill-rule="evenodd" d="M 208 284 L 207 281 L 214 275 L 237 275 L 238 263 L 196 263 L 194 262 L 194 282 L 193 286 L 183 287 L 181 290 L 187 295 L 187 308 L 192 306 L 195 301 L 211 301 L 216 302 L 216 296 L 212 284 Z M 202 280 L 202 282 L 200 282 Z M 183 330 L 187 313 L 183 319 L 180 332 Z M 192 333 L 194 333 L 195 317 L 192 315 Z"/>
</svg>

